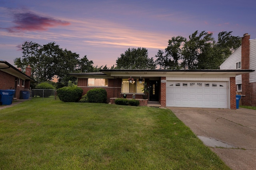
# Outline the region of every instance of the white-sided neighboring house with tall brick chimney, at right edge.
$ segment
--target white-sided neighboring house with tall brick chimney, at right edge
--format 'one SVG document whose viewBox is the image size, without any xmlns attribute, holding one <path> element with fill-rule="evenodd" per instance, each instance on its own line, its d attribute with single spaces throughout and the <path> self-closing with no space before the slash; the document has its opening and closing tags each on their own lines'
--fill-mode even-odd
<svg viewBox="0 0 256 170">
<path fill-rule="evenodd" d="M 256 70 L 256 39 L 250 39 L 245 33 L 242 45 L 220 65 L 220 69 Z M 256 106 L 256 72 L 237 75 L 236 92 L 242 94 L 242 105 Z"/>
</svg>

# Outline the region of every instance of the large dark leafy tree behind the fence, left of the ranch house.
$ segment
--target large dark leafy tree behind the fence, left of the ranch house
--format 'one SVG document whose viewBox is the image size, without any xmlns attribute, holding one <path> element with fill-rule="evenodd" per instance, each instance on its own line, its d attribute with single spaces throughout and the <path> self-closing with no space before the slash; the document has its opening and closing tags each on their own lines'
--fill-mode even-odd
<svg viewBox="0 0 256 170">
<path fill-rule="evenodd" d="M 54 42 L 46 45 L 25 42 L 22 50 L 22 59 L 14 59 L 14 64 L 21 68 L 30 65 L 32 76 L 38 82 L 51 80 L 54 75 L 63 78 L 67 73 L 74 72 L 79 63 L 78 54 L 63 50 Z"/>
</svg>

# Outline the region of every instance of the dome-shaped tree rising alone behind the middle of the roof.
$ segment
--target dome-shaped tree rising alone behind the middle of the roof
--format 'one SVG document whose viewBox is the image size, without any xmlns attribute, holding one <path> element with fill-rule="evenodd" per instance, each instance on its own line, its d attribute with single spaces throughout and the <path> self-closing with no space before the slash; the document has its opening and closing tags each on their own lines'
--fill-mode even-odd
<svg viewBox="0 0 256 170">
<path fill-rule="evenodd" d="M 116 69 L 155 69 L 156 63 L 148 57 L 146 48 L 128 49 L 116 60 Z"/>
</svg>

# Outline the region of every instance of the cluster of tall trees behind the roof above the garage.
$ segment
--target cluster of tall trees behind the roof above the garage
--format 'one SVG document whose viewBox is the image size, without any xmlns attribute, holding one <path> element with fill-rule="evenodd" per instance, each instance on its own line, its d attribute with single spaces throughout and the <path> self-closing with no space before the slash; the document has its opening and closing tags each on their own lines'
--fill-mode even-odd
<svg viewBox="0 0 256 170">
<path fill-rule="evenodd" d="M 218 41 L 212 33 L 195 31 L 189 39 L 182 36 L 172 37 L 168 41 L 165 53 L 161 50 L 156 55 L 156 63 L 164 69 L 219 69 L 223 61 L 241 45 L 240 37 L 232 32 L 218 33 Z"/>
</svg>

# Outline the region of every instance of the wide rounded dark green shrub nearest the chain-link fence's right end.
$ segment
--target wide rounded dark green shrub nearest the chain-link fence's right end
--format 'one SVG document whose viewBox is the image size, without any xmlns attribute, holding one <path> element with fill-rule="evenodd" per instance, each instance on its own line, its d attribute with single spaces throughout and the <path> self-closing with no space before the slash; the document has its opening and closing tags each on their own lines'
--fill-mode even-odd
<svg viewBox="0 0 256 170">
<path fill-rule="evenodd" d="M 57 90 L 58 97 L 63 102 L 78 102 L 79 98 L 82 96 L 82 88 L 73 87 L 62 87 Z"/>
</svg>

